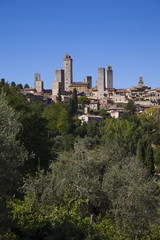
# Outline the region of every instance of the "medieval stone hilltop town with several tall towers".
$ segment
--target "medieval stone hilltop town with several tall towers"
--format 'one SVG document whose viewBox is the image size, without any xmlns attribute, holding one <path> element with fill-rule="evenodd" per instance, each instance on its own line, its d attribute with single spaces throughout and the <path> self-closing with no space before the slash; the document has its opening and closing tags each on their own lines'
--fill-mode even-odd
<svg viewBox="0 0 160 240">
<path fill-rule="evenodd" d="M 116 89 L 113 88 L 113 69 L 111 66 L 98 68 L 98 80 L 92 87 L 92 76 L 86 76 L 83 82 L 73 82 L 72 58 L 66 53 L 63 59 L 63 69 L 55 70 L 55 81 L 52 89 L 44 89 L 44 82 L 39 73 L 34 74 L 34 88 L 24 88 L 21 94 L 26 95 L 28 101 L 35 97 L 39 101 L 56 102 L 58 92 L 61 92 L 62 101 L 68 102 L 73 89 L 77 90 L 78 97 L 86 96 L 90 99 L 86 113 L 89 110 L 105 109 L 112 117 L 119 118 L 124 112 L 124 105 L 133 100 L 137 114 L 151 107 L 160 107 L 160 88 L 151 89 L 144 85 L 143 77 L 139 77 L 137 86 Z"/>
</svg>

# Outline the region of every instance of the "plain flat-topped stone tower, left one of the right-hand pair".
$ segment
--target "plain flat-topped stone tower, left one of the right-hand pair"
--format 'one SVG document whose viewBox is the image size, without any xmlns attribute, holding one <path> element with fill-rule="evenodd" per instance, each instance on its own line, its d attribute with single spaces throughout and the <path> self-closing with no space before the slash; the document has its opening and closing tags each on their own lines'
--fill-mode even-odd
<svg viewBox="0 0 160 240">
<path fill-rule="evenodd" d="M 105 88 L 105 68 L 98 68 L 98 98 L 104 98 L 104 88 Z"/>
</svg>

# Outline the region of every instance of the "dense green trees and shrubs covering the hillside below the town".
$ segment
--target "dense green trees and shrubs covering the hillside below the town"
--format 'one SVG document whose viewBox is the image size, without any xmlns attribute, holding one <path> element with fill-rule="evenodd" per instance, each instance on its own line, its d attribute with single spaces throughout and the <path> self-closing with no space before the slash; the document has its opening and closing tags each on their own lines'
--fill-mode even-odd
<svg viewBox="0 0 160 240">
<path fill-rule="evenodd" d="M 82 125 L 75 90 L 40 105 L 21 88 L 0 82 L 0 239 L 160 239 L 159 111 Z"/>
</svg>

